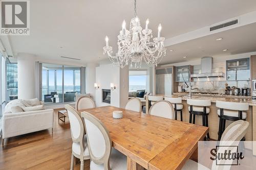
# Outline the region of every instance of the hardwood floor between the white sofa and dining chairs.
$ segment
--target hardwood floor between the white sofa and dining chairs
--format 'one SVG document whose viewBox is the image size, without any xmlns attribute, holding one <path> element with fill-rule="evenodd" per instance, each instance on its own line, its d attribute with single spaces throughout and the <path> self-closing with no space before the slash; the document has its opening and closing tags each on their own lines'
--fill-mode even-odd
<svg viewBox="0 0 256 170">
<path fill-rule="evenodd" d="M 53 129 L 53 135 L 49 129 L 5 140 L 5 146 L 0 147 L 0 169 L 70 169 L 69 119 L 66 123 L 58 121 L 57 110 L 54 110 Z M 74 169 L 80 169 L 80 164 L 74 165 Z M 89 161 L 84 169 L 89 169 Z"/>
</svg>

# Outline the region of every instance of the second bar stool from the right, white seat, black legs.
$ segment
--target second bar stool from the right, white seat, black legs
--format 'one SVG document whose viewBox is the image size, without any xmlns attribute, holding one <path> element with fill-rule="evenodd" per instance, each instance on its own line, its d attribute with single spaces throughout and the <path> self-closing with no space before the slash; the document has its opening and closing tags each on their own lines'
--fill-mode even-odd
<svg viewBox="0 0 256 170">
<path fill-rule="evenodd" d="M 193 124 L 196 122 L 196 115 L 201 115 L 203 120 L 203 126 L 208 127 L 208 115 L 210 113 L 210 108 L 207 106 L 211 105 L 210 100 L 202 100 L 202 99 L 187 99 L 188 111 L 189 111 L 189 123 L 192 123 L 193 116 Z M 209 133 L 207 133 L 207 138 L 210 139 Z"/>
</svg>

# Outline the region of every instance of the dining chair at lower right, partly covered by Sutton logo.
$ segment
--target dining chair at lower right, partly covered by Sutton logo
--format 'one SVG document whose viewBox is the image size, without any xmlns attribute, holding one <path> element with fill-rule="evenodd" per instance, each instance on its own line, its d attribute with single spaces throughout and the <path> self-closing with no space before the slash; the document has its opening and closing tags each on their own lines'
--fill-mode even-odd
<svg viewBox="0 0 256 170">
<path fill-rule="evenodd" d="M 238 145 L 239 141 L 244 137 L 244 135 L 247 132 L 247 129 L 249 127 L 249 122 L 246 122 L 244 120 L 237 120 L 236 122 L 233 122 L 230 124 L 226 130 L 223 132 L 220 146 L 224 145 Z M 233 144 L 231 144 L 233 143 Z M 223 161 L 223 160 L 222 160 Z M 225 160 L 224 160 L 225 161 Z M 233 161 L 233 160 L 226 160 L 226 161 Z M 232 163 L 232 162 L 231 162 Z M 224 162 L 221 162 L 220 164 L 224 164 Z M 229 162 L 226 162 L 226 164 L 230 164 Z M 211 169 L 223 169 L 223 167 L 219 168 L 219 165 L 216 165 L 216 162 L 213 162 L 211 165 Z M 225 165 L 225 169 L 229 169 L 230 165 Z M 205 167 L 204 165 L 197 163 L 193 160 L 188 159 L 187 162 L 182 167 L 182 170 L 191 170 L 191 169 L 209 169 Z"/>
</svg>

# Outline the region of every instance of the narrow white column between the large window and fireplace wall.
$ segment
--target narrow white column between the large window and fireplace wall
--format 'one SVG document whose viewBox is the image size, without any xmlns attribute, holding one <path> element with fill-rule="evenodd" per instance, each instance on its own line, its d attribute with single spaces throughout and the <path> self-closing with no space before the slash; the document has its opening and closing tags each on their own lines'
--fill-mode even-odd
<svg viewBox="0 0 256 170">
<path fill-rule="evenodd" d="M 95 99 L 95 68 L 94 63 L 88 63 L 86 66 L 86 93 L 90 93 Z M 96 82 L 97 83 L 97 82 Z"/>
</svg>

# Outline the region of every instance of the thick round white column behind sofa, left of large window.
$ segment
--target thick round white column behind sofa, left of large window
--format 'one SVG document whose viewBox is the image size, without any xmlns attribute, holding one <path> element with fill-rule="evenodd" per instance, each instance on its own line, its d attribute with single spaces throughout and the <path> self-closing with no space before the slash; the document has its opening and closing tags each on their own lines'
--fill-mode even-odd
<svg viewBox="0 0 256 170">
<path fill-rule="evenodd" d="M 35 56 L 26 53 L 17 55 L 18 99 L 33 99 L 35 93 Z"/>
</svg>

